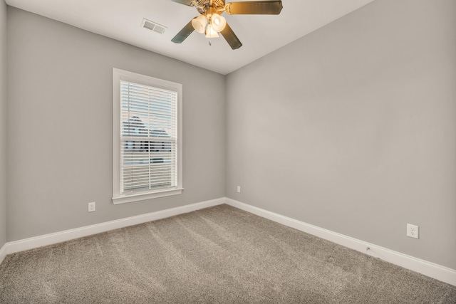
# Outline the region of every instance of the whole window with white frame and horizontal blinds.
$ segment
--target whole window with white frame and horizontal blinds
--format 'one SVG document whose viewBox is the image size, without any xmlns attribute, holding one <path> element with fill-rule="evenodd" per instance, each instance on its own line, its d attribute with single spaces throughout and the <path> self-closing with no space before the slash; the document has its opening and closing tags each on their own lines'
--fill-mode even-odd
<svg viewBox="0 0 456 304">
<path fill-rule="evenodd" d="M 113 203 L 182 193 L 182 85 L 113 69 Z"/>
</svg>

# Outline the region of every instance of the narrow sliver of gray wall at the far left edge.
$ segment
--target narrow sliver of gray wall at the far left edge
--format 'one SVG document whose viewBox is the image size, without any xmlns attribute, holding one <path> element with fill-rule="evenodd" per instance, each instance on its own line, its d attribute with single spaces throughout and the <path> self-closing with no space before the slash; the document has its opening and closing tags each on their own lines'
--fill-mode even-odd
<svg viewBox="0 0 456 304">
<path fill-rule="evenodd" d="M 0 248 L 6 243 L 6 4 L 0 0 Z"/>
</svg>

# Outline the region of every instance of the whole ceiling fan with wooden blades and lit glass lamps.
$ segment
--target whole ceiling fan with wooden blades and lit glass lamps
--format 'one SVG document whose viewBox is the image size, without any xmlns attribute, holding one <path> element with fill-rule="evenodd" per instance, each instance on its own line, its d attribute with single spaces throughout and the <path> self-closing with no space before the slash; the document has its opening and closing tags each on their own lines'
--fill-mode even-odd
<svg viewBox="0 0 456 304">
<path fill-rule="evenodd" d="M 187 23 L 177 35 L 171 39 L 174 43 L 182 43 L 193 31 L 205 33 L 207 38 L 219 37 L 221 33 L 233 50 L 242 46 L 241 41 L 229 27 L 224 19 L 223 12 L 229 15 L 238 14 L 259 14 L 279 15 L 282 10 L 281 0 L 266 1 L 243 1 L 225 4 L 224 0 L 172 0 L 197 9 L 200 16 L 195 17 Z"/>
</svg>

